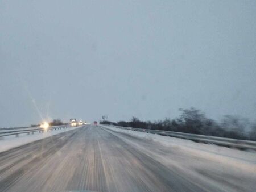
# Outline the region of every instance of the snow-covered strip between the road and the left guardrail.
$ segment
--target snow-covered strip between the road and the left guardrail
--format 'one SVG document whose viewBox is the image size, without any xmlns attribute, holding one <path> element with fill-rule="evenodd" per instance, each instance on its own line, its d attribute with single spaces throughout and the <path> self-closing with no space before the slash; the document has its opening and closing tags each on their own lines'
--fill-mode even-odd
<svg viewBox="0 0 256 192">
<path fill-rule="evenodd" d="M 15 135 L 5 136 L 4 139 L 0 140 L 0 152 L 6 151 L 14 147 L 19 147 L 20 145 L 31 143 L 36 140 L 44 139 L 46 137 L 50 137 L 62 132 L 75 130 L 76 128 L 79 128 L 79 127 L 68 127 L 68 128 L 56 130 L 56 131 L 55 130 L 44 131 L 43 133 L 34 132 L 33 135 L 31 133 L 30 135 L 20 134 L 19 137 L 15 137 Z"/>
</svg>

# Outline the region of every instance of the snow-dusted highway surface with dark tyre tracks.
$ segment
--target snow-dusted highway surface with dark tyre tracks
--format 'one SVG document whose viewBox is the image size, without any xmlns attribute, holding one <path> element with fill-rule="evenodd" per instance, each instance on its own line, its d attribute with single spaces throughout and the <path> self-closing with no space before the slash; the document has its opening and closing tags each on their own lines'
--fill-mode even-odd
<svg viewBox="0 0 256 192">
<path fill-rule="evenodd" d="M 92 125 L 0 153 L 0 191 L 255 191 L 249 176 Z"/>
</svg>

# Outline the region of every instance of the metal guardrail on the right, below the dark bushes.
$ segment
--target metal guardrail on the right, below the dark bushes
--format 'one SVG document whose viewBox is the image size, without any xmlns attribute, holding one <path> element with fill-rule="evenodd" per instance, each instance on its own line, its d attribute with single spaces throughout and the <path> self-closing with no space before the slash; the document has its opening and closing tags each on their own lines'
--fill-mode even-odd
<svg viewBox="0 0 256 192">
<path fill-rule="evenodd" d="M 189 139 L 196 142 L 216 144 L 216 145 L 221 145 L 225 147 L 256 150 L 256 141 L 250 141 L 250 140 L 229 139 L 225 137 L 214 137 L 214 136 L 207 136 L 207 135 L 195 135 L 190 133 L 182 133 L 182 132 L 174 132 L 174 131 L 147 130 L 147 129 L 133 128 L 133 127 L 121 127 L 121 126 L 113 126 L 113 127 L 121 128 L 123 130 L 133 130 L 133 131 L 154 133 L 154 134 L 164 135 L 164 136 L 178 137 L 181 139 Z"/>
</svg>

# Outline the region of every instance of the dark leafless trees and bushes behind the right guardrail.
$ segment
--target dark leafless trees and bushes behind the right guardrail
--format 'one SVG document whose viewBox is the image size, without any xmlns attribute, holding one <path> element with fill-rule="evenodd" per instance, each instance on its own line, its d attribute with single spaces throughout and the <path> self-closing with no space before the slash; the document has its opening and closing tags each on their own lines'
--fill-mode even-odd
<svg viewBox="0 0 256 192">
<path fill-rule="evenodd" d="M 101 121 L 100 124 L 256 140 L 256 123 L 250 123 L 245 118 L 225 115 L 221 122 L 216 122 L 213 119 L 207 118 L 204 112 L 193 107 L 180 109 L 180 111 L 181 114 L 176 119 L 165 118 L 164 120 L 150 122 L 133 117 L 128 122 Z"/>
</svg>

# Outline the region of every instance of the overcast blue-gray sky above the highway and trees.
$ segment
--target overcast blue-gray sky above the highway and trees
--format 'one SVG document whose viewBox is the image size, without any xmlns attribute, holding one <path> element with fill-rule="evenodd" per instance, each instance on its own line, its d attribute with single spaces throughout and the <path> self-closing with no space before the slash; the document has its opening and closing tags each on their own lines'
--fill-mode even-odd
<svg viewBox="0 0 256 192">
<path fill-rule="evenodd" d="M 255 34 L 256 1 L 0 1 L 0 127 L 254 120 Z"/>
</svg>

